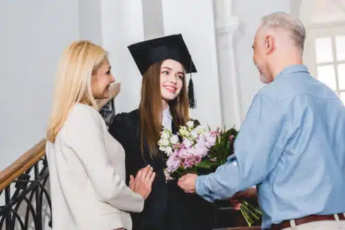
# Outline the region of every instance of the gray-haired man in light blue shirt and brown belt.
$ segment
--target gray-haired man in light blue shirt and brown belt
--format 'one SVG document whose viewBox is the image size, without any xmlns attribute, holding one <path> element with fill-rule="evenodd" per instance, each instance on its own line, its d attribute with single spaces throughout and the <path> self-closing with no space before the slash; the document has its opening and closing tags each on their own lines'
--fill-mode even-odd
<svg viewBox="0 0 345 230">
<path fill-rule="evenodd" d="M 268 85 L 253 99 L 235 155 L 213 174 L 179 180 L 211 202 L 257 185 L 263 229 L 345 227 L 345 107 L 302 65 L 305 38 L 290 14 L 262 18 L 253 61 Z"/>
</svg>

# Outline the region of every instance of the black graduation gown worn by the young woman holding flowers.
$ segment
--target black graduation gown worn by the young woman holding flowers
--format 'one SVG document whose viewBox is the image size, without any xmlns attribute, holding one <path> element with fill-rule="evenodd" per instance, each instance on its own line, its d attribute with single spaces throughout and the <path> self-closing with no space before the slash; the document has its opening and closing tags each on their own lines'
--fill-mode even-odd
<svg viewBox="0 0 345 230">
<path fill-rule="evenodd" d="M 139 169 L 151 165 L 156 172 L 150 196 L 145 200 L 144 211 L 130 213 L 133 230 L 210 230 L 214 224 L 213 204 L 196 194 L 186 194 L 177 186 L 177 180 L 166 182 L 163 158 L 150 158 L 148 145 L 141 154 L 141 132 L 138 109 L 117 114 L 109 132 L 126 152 L 126 183 Z M 172 125 L 176 134 L 177 127 Z M 145 139 L 144 139 L 145 140 Z M 144 157 L 143 157 L 144 155 Z"/>
</svg>

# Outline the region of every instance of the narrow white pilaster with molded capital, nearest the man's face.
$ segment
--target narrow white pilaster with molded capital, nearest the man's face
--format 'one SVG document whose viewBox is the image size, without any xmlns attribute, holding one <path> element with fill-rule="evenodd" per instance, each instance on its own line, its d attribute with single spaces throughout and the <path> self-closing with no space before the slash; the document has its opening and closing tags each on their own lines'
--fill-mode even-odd
<svg viewBox="0 0 345 230">
<path fill-rule="evenodd" d="M 215 26 L 219 64 L 222 118 L 226 127 L 237 129 L 241 125 L 241 101 L 236 73 L 234 32 L 239 25 L 238 17 L 232 17 L 232 0 L 215 1 Z"/>
</svg>

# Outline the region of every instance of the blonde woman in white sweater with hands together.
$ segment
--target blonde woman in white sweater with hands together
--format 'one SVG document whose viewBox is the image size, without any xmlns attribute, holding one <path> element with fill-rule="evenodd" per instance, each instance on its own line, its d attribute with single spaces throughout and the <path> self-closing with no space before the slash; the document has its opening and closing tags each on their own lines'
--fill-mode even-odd
<svg viewBox="0 0 345 230">
<path fill-rule="evenodd" d="M 107 53 L 88 41 L 72 43 L 59 62 L 48 124 L 52 229 L 132 229 L 155 173 L 150 165 L 130 176 L 125 153 L 99 115 L 96 99 L 114 82 Z"/>
</svg>

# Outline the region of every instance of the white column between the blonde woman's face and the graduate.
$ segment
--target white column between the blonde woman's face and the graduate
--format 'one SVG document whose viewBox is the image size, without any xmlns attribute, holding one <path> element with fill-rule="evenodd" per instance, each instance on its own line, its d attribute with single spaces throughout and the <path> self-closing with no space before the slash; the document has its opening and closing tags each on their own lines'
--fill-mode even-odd
<svg viewBox="0 0 345 230">
<path fill-rule="evenodd" d="M 102 0 L 103 47 L 109 52 L 112 74 L 121 83 L 116 112 L 139 107 L 141 74 L 127 46 L 144 40 L 141 1 Z"/>
</svg>

